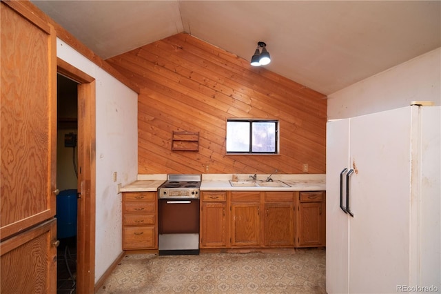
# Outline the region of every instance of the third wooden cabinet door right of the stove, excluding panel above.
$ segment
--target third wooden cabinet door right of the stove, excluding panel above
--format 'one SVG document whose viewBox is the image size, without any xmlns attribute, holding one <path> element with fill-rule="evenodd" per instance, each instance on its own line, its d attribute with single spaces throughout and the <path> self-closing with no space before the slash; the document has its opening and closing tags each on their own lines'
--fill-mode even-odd
<svg viewBox="0 0 441 294">
<path fill-rule="evenodd" d="M 265 203 L 265 246 L 294 246 L 294 202 Z"/>
</svg>

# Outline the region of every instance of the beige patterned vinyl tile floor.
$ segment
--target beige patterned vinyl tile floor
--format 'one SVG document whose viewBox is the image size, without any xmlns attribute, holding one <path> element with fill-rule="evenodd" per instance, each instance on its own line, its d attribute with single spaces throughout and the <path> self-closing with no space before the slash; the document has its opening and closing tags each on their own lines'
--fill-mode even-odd
<svg viewBox="0 0 441 294">
<path fill-rule="evenodd" d="M 125 255 L 97 293 L 326 293 L 325 249 Z"/>
</svg>

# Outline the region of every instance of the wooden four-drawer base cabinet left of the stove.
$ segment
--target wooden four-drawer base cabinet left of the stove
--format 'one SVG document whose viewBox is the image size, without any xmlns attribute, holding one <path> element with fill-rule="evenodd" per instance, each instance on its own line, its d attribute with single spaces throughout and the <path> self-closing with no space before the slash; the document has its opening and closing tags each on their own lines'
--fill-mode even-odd
<svg viewBox="0 0 441 294">
<path fill-rule="evenodd" d="M 123 193 L 123 250 L 158 248 L 155 192 Z"/>
</svg>

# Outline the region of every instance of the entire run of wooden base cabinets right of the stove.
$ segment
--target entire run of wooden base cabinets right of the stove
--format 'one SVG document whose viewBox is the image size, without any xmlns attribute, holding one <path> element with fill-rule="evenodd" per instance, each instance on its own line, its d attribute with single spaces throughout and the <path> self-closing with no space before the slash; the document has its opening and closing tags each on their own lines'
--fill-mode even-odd
<svg viewBox="0 0 441 294">
<path fill-rule="evenodd" d="M 325 191 L 202 191 L 200 248 L 325 246 Z"/>
</svg>

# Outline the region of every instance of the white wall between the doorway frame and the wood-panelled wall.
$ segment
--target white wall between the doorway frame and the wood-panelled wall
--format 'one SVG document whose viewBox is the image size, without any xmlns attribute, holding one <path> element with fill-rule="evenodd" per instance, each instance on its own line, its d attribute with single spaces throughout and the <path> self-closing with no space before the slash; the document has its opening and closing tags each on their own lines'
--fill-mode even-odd
<svg viewBox="0 0 441 294">
<path fill-rule="evenodd" d="M 58 38 L 57 57 L 96 79 L 96 283 L 122 252 L 117 184 L 138 174 L 138 95 Z"/>
</svg>

